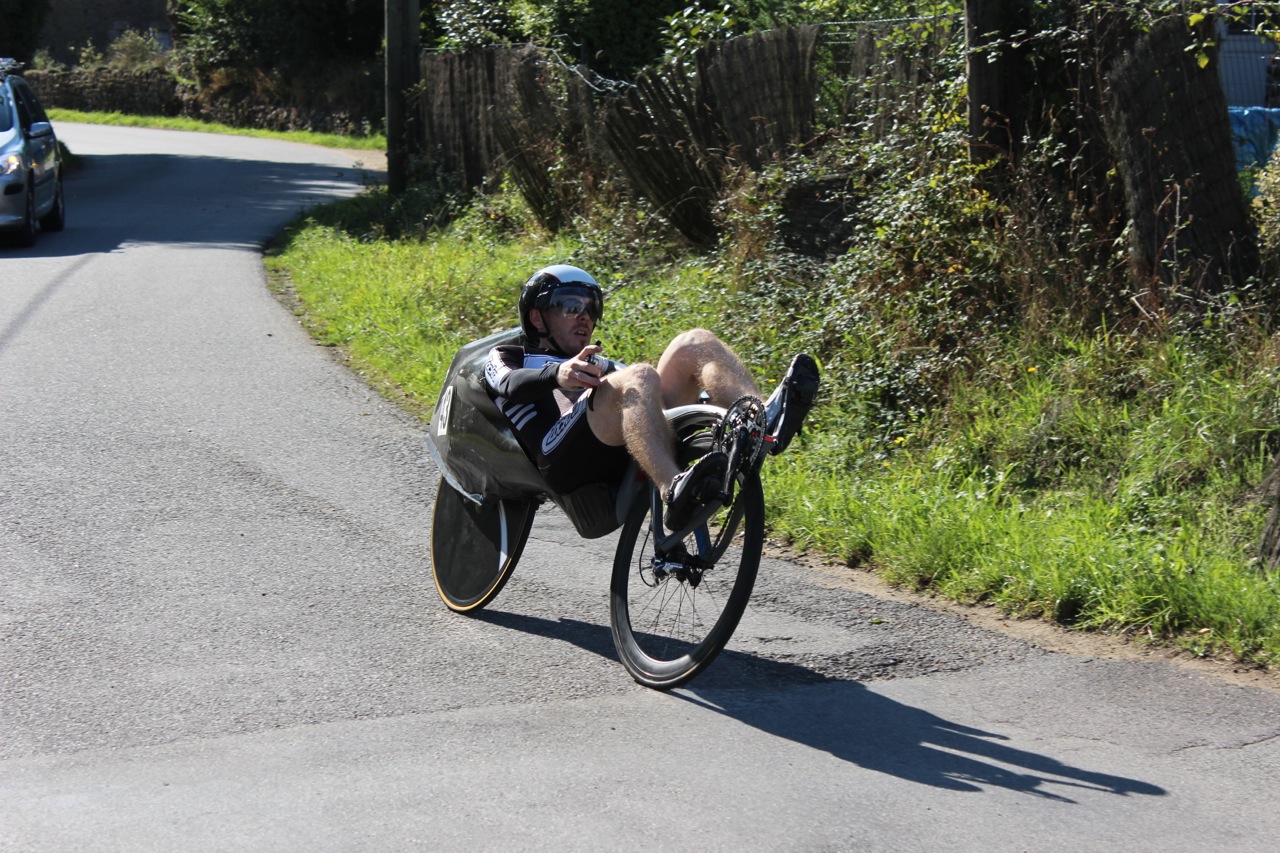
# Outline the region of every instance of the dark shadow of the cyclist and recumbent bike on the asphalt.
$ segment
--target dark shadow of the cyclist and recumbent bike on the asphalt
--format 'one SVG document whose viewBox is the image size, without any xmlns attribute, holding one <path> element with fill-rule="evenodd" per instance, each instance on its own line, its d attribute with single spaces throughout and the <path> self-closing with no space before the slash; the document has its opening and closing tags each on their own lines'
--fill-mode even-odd
<svg viewBox="0 0 1280 853">
<path fill-rule="evenodd" d="M 613 637 L 604 625 L 498 611 L 483 611 L 476 619 L 617 660 Z M 618 678 L 626 678 L 621 663 Z M 826 685 L 820 693 L 780 690 L 819 684 Z M 1166 793 L 1149 783 L 1073 767 L 1019 749 L 1004 735 L 952 722 L 858 681 L 742 652 L 724 651 L 689 686 L 669 695 L 859 767 L 934 788 L 980 792 L 983 786 L 997 786 L 1064 803 L 1075 800 L 1050 788 L 1123 797 Z"/>
</svg>

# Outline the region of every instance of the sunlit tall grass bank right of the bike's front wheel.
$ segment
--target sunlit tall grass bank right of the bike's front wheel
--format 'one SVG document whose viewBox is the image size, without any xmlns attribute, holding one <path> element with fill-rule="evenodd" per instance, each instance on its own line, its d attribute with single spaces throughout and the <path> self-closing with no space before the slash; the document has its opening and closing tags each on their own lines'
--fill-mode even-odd
<svg viewBox="0 0 1280 853">
<path fill-rule="evenodd" d="M 778 532 L 908 587 L 1275 663 L 1280 583 L 1254 562 L 1280 425 L 1270 339 L 1069 343 L 1010 357 L 873 452 L 810 439 L 772 471 Z"/>
</svg>

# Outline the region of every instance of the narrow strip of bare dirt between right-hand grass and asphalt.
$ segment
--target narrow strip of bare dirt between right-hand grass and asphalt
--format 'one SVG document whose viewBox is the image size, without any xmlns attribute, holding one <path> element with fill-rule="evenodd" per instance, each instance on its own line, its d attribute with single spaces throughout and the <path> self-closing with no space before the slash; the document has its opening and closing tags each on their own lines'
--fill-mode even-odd
<svg viewBox="0 0 1280 853">
<path fill-rule="evenodd" d="M 960 605 L 937 596 L 913 593 L 886 583 L 873 571 L 850 569 L 832 561 L 796 553 L 773 540 L 768 543 L 768 551 L 771 556 L 804 566 L 818 584 L 951 613 L 970 625 L 1015 637 L 1050 652 L 1114 661 L 1161 661 L 1231 684 L 1280 690 L 1280 670 L 1260 669 L 1238 661 L 1197 657 L 1183 649 L 1160 646 L 1155 642 L 1142 642 L 1133 637 L 1073 631 L 1039 619 L 1007 616 L 991 605 Z"/>
</svg>

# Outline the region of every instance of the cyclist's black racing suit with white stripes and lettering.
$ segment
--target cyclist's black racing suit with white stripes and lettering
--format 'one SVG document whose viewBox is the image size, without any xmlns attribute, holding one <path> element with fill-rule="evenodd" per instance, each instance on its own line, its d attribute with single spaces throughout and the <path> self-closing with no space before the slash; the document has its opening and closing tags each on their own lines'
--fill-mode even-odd
<svg viewBox="0 0 1280 853">
<path fill-rule="evenodd" d="M 490 350 L 485 362 L 489 396 L 525 453 L 559 492 L 614 480 L 630 461 L 626 447 L 605 444 L 591 432 L 590 389 L 559 387 L 557 369 L 568 360 L 549 350 L 506 345 Z"/>
</svg>

